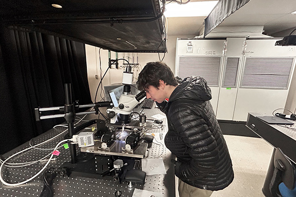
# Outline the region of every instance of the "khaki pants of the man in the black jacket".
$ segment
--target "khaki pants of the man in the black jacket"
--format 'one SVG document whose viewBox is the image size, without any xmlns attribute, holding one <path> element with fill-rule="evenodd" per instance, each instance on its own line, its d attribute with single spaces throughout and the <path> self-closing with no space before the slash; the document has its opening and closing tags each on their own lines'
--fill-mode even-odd
<svg viewBox="0 0 296 197">
<path fill-rule="evenodd" d="M 180 197 L 210 197 L 213 193 L 211 190 L 199 189 L 182 182 L 179 179 L 179 196 Z"/>
</svg>

